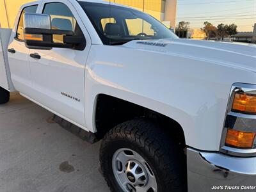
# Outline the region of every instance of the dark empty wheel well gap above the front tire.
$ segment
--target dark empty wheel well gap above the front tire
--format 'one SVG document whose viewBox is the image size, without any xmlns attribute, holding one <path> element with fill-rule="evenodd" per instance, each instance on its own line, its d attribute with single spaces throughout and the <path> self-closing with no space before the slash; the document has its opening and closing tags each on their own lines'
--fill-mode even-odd
<svg viewBox="0 0 256 192">
<path fill-rule="evenodd" d="M 118 99 L 109 95 L 100 94 L 97 97 L 95 113 L 95 125 L 97 129 L 97 139 L 104 137 L 106 132 L 122 122 L 134 118 L 150 118 L 161 124 L 165 134 L 177 140 L 182 147 L 186 147 L 184 132 L 178 122 L 168 116 L 144 108 L 132 102 Z M 173 127 L 175 129 L 170 129 Z"/>
</svg>

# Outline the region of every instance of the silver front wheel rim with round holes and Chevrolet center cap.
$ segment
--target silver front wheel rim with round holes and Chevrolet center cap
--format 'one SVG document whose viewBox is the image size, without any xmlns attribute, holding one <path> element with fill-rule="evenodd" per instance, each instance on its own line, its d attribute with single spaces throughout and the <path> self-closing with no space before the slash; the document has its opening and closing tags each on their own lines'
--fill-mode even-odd
<svg viewBox="0 0 256 192">
<path fill-rule="evenodd" d="M 125 192 L 157 191 L 157 182 L 148 163 L 134 150 L 120 148 L 112 159 L 115 179 Z"/>
</svg>

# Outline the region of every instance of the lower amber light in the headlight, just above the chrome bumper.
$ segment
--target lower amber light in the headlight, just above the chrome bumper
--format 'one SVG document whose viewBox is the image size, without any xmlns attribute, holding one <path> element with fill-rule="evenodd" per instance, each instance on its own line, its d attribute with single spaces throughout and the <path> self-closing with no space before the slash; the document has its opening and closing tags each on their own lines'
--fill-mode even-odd
<svg viewBox="0 0 256 192">
<path fill-rule="evenodd" d="M 235 148 L 253 148 L 256 133 L 241 132 L 234 129 L 228 129 L 226 144 Z"/>
</svg>

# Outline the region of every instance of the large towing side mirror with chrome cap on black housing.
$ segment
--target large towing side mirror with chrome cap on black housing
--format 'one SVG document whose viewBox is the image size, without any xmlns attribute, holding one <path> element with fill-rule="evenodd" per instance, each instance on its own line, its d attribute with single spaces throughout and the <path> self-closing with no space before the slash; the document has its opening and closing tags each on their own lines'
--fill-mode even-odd
<svg viewBox="0 0 256 192">
<path fill-rule="evenodd" d="M 53 36 L 58 36 L 57 42 Z M 52 29 L 50 15 L 38 13 L 24 14 L 24 41 L 29 49 L 59 47 L 83 50 L 86 44 L 84 36 L 76 36 L 73 31 Z"/>
</svg>

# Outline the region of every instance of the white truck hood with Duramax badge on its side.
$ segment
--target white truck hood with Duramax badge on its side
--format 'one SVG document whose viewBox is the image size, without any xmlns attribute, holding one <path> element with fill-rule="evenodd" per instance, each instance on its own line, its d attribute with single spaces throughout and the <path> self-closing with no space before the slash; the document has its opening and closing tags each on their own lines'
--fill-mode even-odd
<svg viewBox="0 0 256 192">
<path fill-rule="evenodd" d="M 133 40 L 127 48 L 204 60 L 256 72 L 256 45 L 188 39 Z"/>
</svg>

